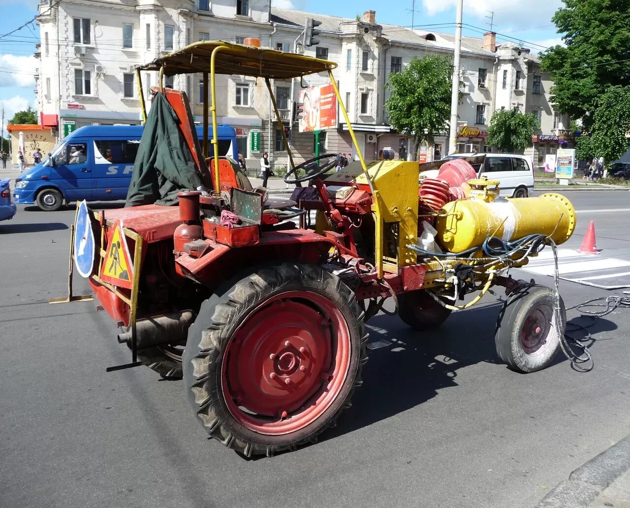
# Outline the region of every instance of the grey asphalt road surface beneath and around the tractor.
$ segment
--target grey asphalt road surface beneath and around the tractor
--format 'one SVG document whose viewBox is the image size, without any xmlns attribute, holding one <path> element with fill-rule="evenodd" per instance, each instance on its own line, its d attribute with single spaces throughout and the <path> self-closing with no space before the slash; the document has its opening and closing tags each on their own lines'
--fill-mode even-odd
<svg viewBox="0 0 630 508">
<path fill-rule="evenodd" d="M 563 247 L 595 219 L 599 258 L 630 260 L 629 212 L 595 211 L 630 209 L 630 193 L 566 195 L 590 212 Z M 66 292 L 73 217 L 22 207 L 0 223 L 0 506 L 525 508 L 630 432 L 630 310 L 592 328 L 592 372 L 558 357 L 523 375 L 496 359 L 488 295 L 435 333 L 374 318 L 364 385 L 339 425 L 294 453 L 243 459 L 206 439 L 181 381 L 105 372 L 130 355 L 94 302 L 47 303 Z M 76 288 L 88 289 L 80 277 Z M 567 281 L 561 292 L 567 306 L 611 294 Z"/>
</svg>

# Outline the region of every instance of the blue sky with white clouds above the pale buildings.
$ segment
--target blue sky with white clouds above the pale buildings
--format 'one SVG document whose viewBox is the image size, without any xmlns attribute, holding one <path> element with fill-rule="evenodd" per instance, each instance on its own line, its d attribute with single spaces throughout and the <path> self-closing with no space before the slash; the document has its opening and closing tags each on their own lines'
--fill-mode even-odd
<svg viewBox="0 0 630 508">
<path fill-rule="evenodd" d="M 272 0 L 274 6 L 311 13 L 333 14 L 354 18 L 365 10 L 376 11 L 377 23 L 411 26 L 413 0 Z M 416 28 L 435 32 L 454 32 L 455 0 L 415 0 L 413 24 Z M 522 40 L 532 50 L 542 50 L 559 43 L 551 16 L 561 0 L 464 0 L 464 35 L 481 37 L 490 27 L 485 16 L 494 12 L 498 42 L 510 38 Z M 37 0 L 0 0 L 0 37 L 11 32 L 37 14 Z M 0 38 L 0 103 L 6 117 L 33 104 L 38 62 L 32 58 L 36 25 Z"/>
</svg>

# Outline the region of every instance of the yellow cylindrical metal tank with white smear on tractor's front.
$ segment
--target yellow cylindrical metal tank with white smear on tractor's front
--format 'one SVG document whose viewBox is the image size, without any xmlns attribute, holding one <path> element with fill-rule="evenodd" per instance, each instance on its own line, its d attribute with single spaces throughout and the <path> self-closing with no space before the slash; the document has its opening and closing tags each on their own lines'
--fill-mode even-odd
<svg viewBox="0 0 630 508">
<path fill-rule="evenodd" d="M 518 240 L 528 234 L 546 234 L 560 244 L 575 230 L 575 209 L 566 197 L 546 193 L 539 197 L 488 199 L 478 195 L 451 201 L 437 218 L 438 240 L 450 252 L 479 246 L 488 236 Z"/>
</svg>

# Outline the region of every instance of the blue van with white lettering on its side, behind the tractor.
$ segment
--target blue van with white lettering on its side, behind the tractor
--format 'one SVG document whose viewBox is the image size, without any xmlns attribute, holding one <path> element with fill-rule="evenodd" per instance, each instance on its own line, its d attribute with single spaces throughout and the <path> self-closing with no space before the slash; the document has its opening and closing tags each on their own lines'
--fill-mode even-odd
<svg viewBox="0 0 630 508">
<path fill-rule="evenodd" d="M 219 155 L 238 160 L 236 131 L 229 125 L 217 128 Z M 15 202 L 56 211 L 69 201 L 125 199 L 143 129 L 141 125 L 88 125 L 75 130 L 40 164 L 16 178 Z M 197 127 L 197 135 L 202 139 L 202 127 Z"/>
</svg>

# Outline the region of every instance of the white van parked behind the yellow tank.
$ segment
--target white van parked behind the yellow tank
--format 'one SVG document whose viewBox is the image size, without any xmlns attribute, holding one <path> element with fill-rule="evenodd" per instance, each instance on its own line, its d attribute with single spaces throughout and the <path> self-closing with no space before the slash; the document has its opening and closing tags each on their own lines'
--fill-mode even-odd
<svg viewBox="0 0 630 508">
<path fill-rule="evenodd" d="M 477 172 L 478 178 L 498 180 L 501 196 L 527 197 L 534 190 L 534 171 L 525 156 L 510 153 L 459 153 L 446 156 L 438 162 L 444 163 L 448 159 L 466 159 Z M 436 176 L 428 174 L 434 171 L 437 175 L 437 170 L 422 174 Z"/>
</svg>

